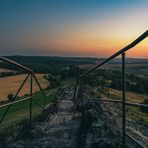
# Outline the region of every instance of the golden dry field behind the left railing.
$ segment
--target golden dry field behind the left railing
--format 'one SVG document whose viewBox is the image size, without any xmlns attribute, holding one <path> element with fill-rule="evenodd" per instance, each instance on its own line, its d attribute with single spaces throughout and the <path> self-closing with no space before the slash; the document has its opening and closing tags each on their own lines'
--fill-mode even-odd
<svg viewBox="0 0 148 148">
<path fill-rule="evenodd" d="M 21 74 L 17 76 L 10 76 L 0 78 L 0 100 L 7 100 L 8 94 L 15 94 L 19 89 L 20 85 L 24 81 L 27 75 Z M 48 81 L 43 78 L 43 74 L 36 75 L 42 88 L 46 88 L 48 86 Z M 29 94 L 30 90 L 30 77 L 25 83 L 23 89 L 20 91 L 19 96 L 23 96 L 25 94 Z M 33 81 L 33 92 L 38 91 L 39 88 L 35 81 Z"/>
</svg>

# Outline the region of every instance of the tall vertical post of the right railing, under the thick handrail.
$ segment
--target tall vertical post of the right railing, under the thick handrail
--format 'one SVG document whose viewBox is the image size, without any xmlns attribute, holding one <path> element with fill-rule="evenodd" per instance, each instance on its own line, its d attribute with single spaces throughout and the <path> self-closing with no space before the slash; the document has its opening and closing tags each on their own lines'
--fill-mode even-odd
<svg viewBox="0 0 148 148">
<path fill-rule="evenodd" d="M 122 146 L 126 147 L 126 116 L 125 116 L 125 92 L 126 92 L 126 74 L 125 74 L 125 53 L 122 53 Z"/>
</svg>

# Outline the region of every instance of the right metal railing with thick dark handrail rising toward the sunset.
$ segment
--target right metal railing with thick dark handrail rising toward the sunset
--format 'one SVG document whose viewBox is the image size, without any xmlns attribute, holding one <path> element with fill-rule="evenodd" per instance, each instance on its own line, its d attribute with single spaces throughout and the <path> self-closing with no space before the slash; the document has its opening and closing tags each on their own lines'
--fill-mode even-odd
<svg viewBox="0 0 148 148">
<path fill-rule="evenodd" d="M 101 99 L 99 101 L 107 101 L 107 102 L 114 102 L 114 103 L 122 104 L 122 146 L 123 146 L 123 148 L 126 147 L 126 136 L 130 140 L 135 142 L 139 147 L 144 148 L 144 146 L 141 143 L 139 143 L 134 137 L 132 137 L 132 136 L 130 136 L 130 135 L 128 135 L 126 133 L 126 111 L 125 111 L 125 106 L 126 105 L 128 105 L 128 106 L 142 106 L 142 107 L 147 107 L 148 108 L 148 105 L 147 104 L 130 103 L 130 102 L 127 102 L 126 99 L 125 99 L 126 98 L 125 52 L 128 51 L 129 49 L 133 48 L 134 46 L 136 46 L 138 43 L 140 43 L 146 37 L 148 37 L 148 30 L 146 32 L 144 32 L 141 36 L 139 36 L 136 40 L 134 40 L 128 46 L 126 46 L 123 49 L 119 50 L 117 53 L 113 54 L 111 57 L 107 58 L 106 60 L 104 60 L 100 64 L 94 66 L 93 68 L 89 69 L 88 71 L 86 71 L 85 73 L 80 75 L 78 77 L 76 85 L 75 85 L 74 102 L 76 103 L 78 101 L 78 93 L 79 93 L 79 90 L 81 88 L 82 78 L 84 78 L 89 73 L 96 70 L 97 68 L 100 68 L 101 66 L 103 66 L 107 62 L 111 61 L 112 59 L 116 58 L 117 56 L 119 56 L 119 55 L 122 56 L 122 100 L 111 100 L 111 99 L 102 100 Z"/>
</svg>

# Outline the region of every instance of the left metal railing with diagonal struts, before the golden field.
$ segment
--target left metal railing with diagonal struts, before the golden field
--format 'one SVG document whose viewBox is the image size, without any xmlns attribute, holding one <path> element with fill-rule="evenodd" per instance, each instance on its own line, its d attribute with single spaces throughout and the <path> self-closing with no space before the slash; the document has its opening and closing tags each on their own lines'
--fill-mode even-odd
<svg viewBox="0 0 148 148">
<path fill-rule="evenodd" d="M 35 103 L 37 103 L 43 109 L 43 111 L 44 111 L 44 108 L 45 108 L 45 93 L 44 93 L 44 91 L 43 91 L 43 89 L 42 89 L 42 87 L 41 87 L 41 85 L 40 85 L 40 83 L 39 83 L 39 81 L 38 81 L 35 73 L 31 69 L 29 69 L 29 68 L 27 68 L 27 67 L 25 67 L 25 66 L 23 66 L 21 64 L 18 64 L 16 62 L 12 61 L 12 60 L 9 60 L 9 59 L 7 59 L 5 57 L 0 57 L 0 61 L 6 62 L 6 63 L 8 63 L 10 65 L 13 65 L 13 66 L 17 67 L 17 68 L 20 68 L 25 73 L 27 73 L 27 76 L 24 79 L 23 83 L 20 85 L 20 87 L 17 90 L 16 94 L 13 96 L 13 101 L 8 102 L 8 103 L 3 104 L 3 105 L 0 105 L 0 109 L 7 107 L 6 110 L 5 110 L 5 112 L 2 115 L 1 119 L 0 119 L 0 124 L 3 122 L 4 118 L 6 117 L 8 111 L 11 108 L 12 105 L 17 104 L 19 102 L 23 102 L 23 101 L 29 100 L 29 125 L 31 127 L 32 108 L 33 108 L 32 107 L 32 101 L 33 101 L 33 80 L 35 80 L 35 82 L 37 83 L 37 86 L 38 86 L 40 92 L 43 95 L 43 101 L 44 101 L 44 103 L 43 103 L 43 105 L 40 105 L 40 103 L 38 103 L 37 100 L 34 99 L 34 101 L 35 101 Z M 23 86 L 25 85 L 25 83 L 27 82 L 27 80 L 29 79 L 29 77 L 30 77 L 30 84 L 29 84 L 30 85 L 30 91 L 29 91 L 29 96 L 28 97 L 25 97 L 23 99 L 17 99 L 19 92 L 23 89 Z"/>
</svg>

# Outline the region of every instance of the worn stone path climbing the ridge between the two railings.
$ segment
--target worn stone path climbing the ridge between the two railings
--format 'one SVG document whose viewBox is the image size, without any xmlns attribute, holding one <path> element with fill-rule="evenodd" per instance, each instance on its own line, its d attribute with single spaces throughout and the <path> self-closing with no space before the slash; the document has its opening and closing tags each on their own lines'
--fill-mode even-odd
<svg viewBox="0 0 148 148">
<path fill-rule="evenodd" d="M 15 148 L 73 148 L 75 145 L 78 121 L 73 118 L 73 90 L 67 88 L 48 122 L 33 125 L 30 137 L 22 138 L 9 145 Z"/>
</svg>

